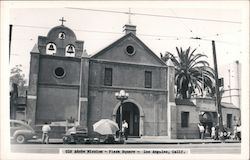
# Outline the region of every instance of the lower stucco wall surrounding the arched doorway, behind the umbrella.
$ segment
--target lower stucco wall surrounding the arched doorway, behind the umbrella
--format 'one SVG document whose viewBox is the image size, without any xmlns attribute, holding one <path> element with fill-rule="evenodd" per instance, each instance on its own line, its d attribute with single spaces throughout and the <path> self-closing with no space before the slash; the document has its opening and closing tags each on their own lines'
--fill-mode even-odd
<svg viewBox="0 0 250 160">
<path fill-rule="evenodd" d="M 89 98 L 89 129 L 92 125 L 102 119 L 112 119 L 115 106 L 120 102 L 115 97 L 117 89 L 90 89 Z M 143 91 L 126 90 L 129 93 L 129 99 L 136 101 L 144 113 L 143 132 L 140 135 L 147 136 L 166 136 L 167 135 L 167 108 L 166 108 L 166 95 L 164 93 L 148 93 Z M 126 103 L 126 101 L 125 101 Z M 142 113 L 140 113 L 140 116 Z"/>
</svg>

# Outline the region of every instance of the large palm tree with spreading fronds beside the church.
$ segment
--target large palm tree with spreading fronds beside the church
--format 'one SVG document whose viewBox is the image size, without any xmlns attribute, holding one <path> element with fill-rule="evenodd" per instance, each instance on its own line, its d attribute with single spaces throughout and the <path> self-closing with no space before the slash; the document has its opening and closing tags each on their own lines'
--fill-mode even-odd
<svg viewBox="0 0 250 160">
<path fill-rule="evenodd" d="M 201 60 L 201 58 L 207 56 L 204 54 L 195 54 L 196 49 L 191 51 L 190 47 L 187 50 L 176 47 L 176 50 L 177 57 L 170 52 L 166 52 L 164 56 L 161 54 L 161 59 L 165 62 L 171 59 L 175 65 L 177 95 L 180 95 L 183 99 L 187 99 L 191 97 L 191 94 L 197 92 L 197 90 L 201 94 L 203 94 L 204 90 L 207 90 L 213 95 L 214 70 L 209 67 L 207 61 Z"/>
</svg>

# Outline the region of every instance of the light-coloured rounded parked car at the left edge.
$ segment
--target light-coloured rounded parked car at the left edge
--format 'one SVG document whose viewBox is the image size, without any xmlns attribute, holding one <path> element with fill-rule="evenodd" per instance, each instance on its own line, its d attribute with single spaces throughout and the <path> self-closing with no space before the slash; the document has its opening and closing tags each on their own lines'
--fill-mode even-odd
<svg viewBox="0 0 250 160">
<path fill-rule="evenodd" d="M 10 137 L 17 143 L 25 143 L 30 139 L 36 139 L 34 129 L 27 123 L 19 120 L 10 120 Z"/>
</svg>

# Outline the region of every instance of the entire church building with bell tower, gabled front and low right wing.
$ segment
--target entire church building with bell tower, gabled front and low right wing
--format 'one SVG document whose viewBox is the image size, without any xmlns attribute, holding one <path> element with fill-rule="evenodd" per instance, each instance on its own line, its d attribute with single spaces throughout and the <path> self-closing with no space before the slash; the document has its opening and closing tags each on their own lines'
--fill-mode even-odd
<svg viewBox="0 0 250 160">
<path fill-rule="evenodd" d="M 124 32 L 92 56 L 85 54 L 84 42 L 64 25 L 39 36 L 30 53 L 26 119 L 31 125 L 49 122 L 53 130 L 73 121 L 93 134 L 95 122 L 112 119 L 120 124 L 122 114 L 129 136 L 198 138 L 201 113 L 213 116 L 204 124 L 217 123 L 214 100 L 176 100 L 172 62 L 156 56 L 136 36 L 136 26 L 125 25 Z M 122 113 L 115 97 L 120 90 L 129 93 Z M 228 110 L 237 112 L 231 117 L 238 116 L 238 110 Z"/>
</svg>

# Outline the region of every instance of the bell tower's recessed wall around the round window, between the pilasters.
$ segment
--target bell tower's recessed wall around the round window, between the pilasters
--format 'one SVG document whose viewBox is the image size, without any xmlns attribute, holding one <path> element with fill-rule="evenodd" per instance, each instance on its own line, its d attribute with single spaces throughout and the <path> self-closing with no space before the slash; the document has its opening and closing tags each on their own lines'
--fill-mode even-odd
<svg viewBox="0 0 250 160">
<path fill-rule="evenodd" d="M 80 59 L 40 55 L 36 124 L 78 119 Z M 62 67 L 65 76 L 57 78 Z"/>
</svg>

